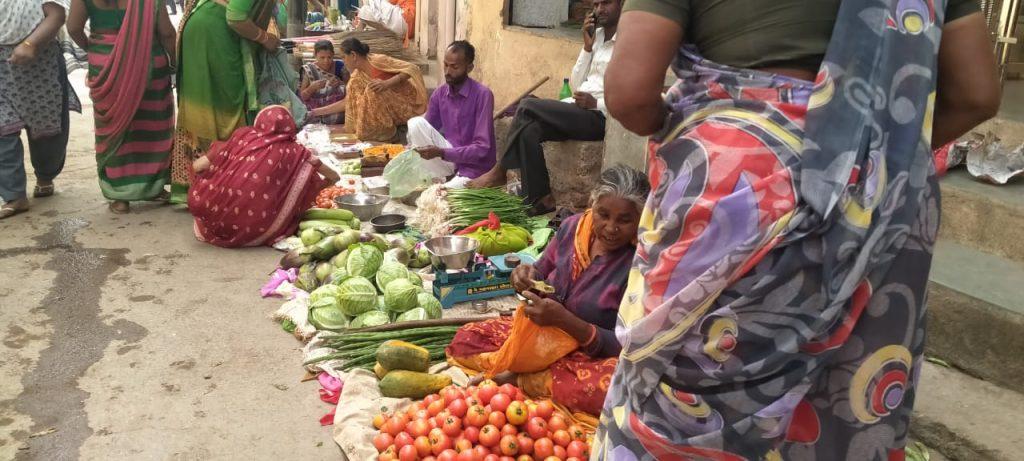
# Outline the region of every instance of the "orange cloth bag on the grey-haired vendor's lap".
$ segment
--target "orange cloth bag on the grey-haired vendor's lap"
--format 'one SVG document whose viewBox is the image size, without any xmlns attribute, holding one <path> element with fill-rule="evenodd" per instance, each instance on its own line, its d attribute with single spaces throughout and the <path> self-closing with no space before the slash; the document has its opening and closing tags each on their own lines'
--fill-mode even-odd
<svg viewBox="0 0 1024 461">
<path fill-rule="evenodd" d="M 546 370 L 578 347 L 580 343 L 575 338 L 561 329 L 541 327 L 531 322 L 520 305 L 512 317 L 509 339 L 494 353 L 486 375 L 490 378 L 504 371 L 536 373 Z"/>
</svg>

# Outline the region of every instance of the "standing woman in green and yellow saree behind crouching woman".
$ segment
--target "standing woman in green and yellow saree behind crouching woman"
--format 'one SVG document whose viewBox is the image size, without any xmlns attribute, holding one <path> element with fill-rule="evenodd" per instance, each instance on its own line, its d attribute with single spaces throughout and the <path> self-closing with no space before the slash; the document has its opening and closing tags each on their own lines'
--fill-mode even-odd
<svg viewBox="0 0 1024 461">
<path fill-rule="evenodd" d="M 185 200 L 191 162 L 259 110 L 256 51 L 278 49 L 276 11 L 275 0 L 196 0 L 182 19 L 172 202 Z"/>
</svg>

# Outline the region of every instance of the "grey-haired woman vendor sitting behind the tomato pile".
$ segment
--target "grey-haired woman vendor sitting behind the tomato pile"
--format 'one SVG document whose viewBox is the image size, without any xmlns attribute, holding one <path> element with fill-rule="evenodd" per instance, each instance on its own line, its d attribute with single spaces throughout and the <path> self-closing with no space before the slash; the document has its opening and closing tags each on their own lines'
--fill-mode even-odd
<svg viewBox="0 0 1024 461">
<path fill-rule="evenodd" d="M 516 267 L 512 283 L 531 301 L 523 307 L 527 318 L 561 329 L 580 348 L 548 370 L 505 373 L 496 381 L 515 380 L 530 396 L 550 397 L 578 414 L 600 413 L 621 349 L 613 330 L 649 192 L 640 171 L 621 165 L 605 170 L 591 194 L 591 208 L 562 223 L 537 264 Z M 528 291 L 535 281 L 547 282 L 554 294 L 542 298 Z M 480 359 L 498 350 L 511 328 L 509 319 L 463 327 L 447 349 L 452 362 L 481 370 L 485 361 Z"/>
</svg>

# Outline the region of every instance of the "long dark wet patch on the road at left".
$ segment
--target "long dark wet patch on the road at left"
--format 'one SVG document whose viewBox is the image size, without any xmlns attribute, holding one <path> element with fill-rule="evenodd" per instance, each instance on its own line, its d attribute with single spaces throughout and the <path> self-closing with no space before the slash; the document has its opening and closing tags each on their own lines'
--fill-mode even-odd
<svg viewBox="0 0 1024 461">
<path fill-rule="evenodd" d="M 77 243 L 75 234 L 88 224 L 81 218 L 61 219 L 35 239 L 36 246 L 0 251 L 0 257 L 45 251 L 52 257 L 44 268 L 56 273 L 49 293 L 33 309 L 48 318 L 53 331 L 50 345 L 42 350 L 36 367 L 22 377 L 22 394 L 0 402 L 0 407 L 12 407 L 31 417 L 32 433 L 46 431 L 29 439 L 17 436 L 27 448 L 17 459 L 78 459 L 82 444 L 93 433 L 85 413 L 89 392 L 78 387 L 78 379 L 102 359 L 111 342 L 134 343 L 148 334 L 132 322 L 117 320 L 106 325 L 100 319 L 103 285 L 130 261 L 127 249 L 83 248 Z M 8 333 L 5 344 L 27 340 L 17 332 Z"/>
</svg>

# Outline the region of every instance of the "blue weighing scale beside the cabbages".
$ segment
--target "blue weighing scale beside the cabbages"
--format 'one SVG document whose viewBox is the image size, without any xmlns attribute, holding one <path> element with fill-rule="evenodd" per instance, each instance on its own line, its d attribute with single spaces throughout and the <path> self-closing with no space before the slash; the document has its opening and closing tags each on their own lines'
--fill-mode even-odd
<svg viewBox="0 0 1024 461">
<path fill-rule="evenodd" d="M 532 264 L 535 259 L 526 254 L 513 253 L 521 264 Z M 505 256 L 492 256 L 473 264 L 472 269 L 434 269 L 434 296 L 441 306 L 451 308 L 460 302 L 492 299 L 515 294 L 512 288 L 512 269 Z"/>
</svg>

